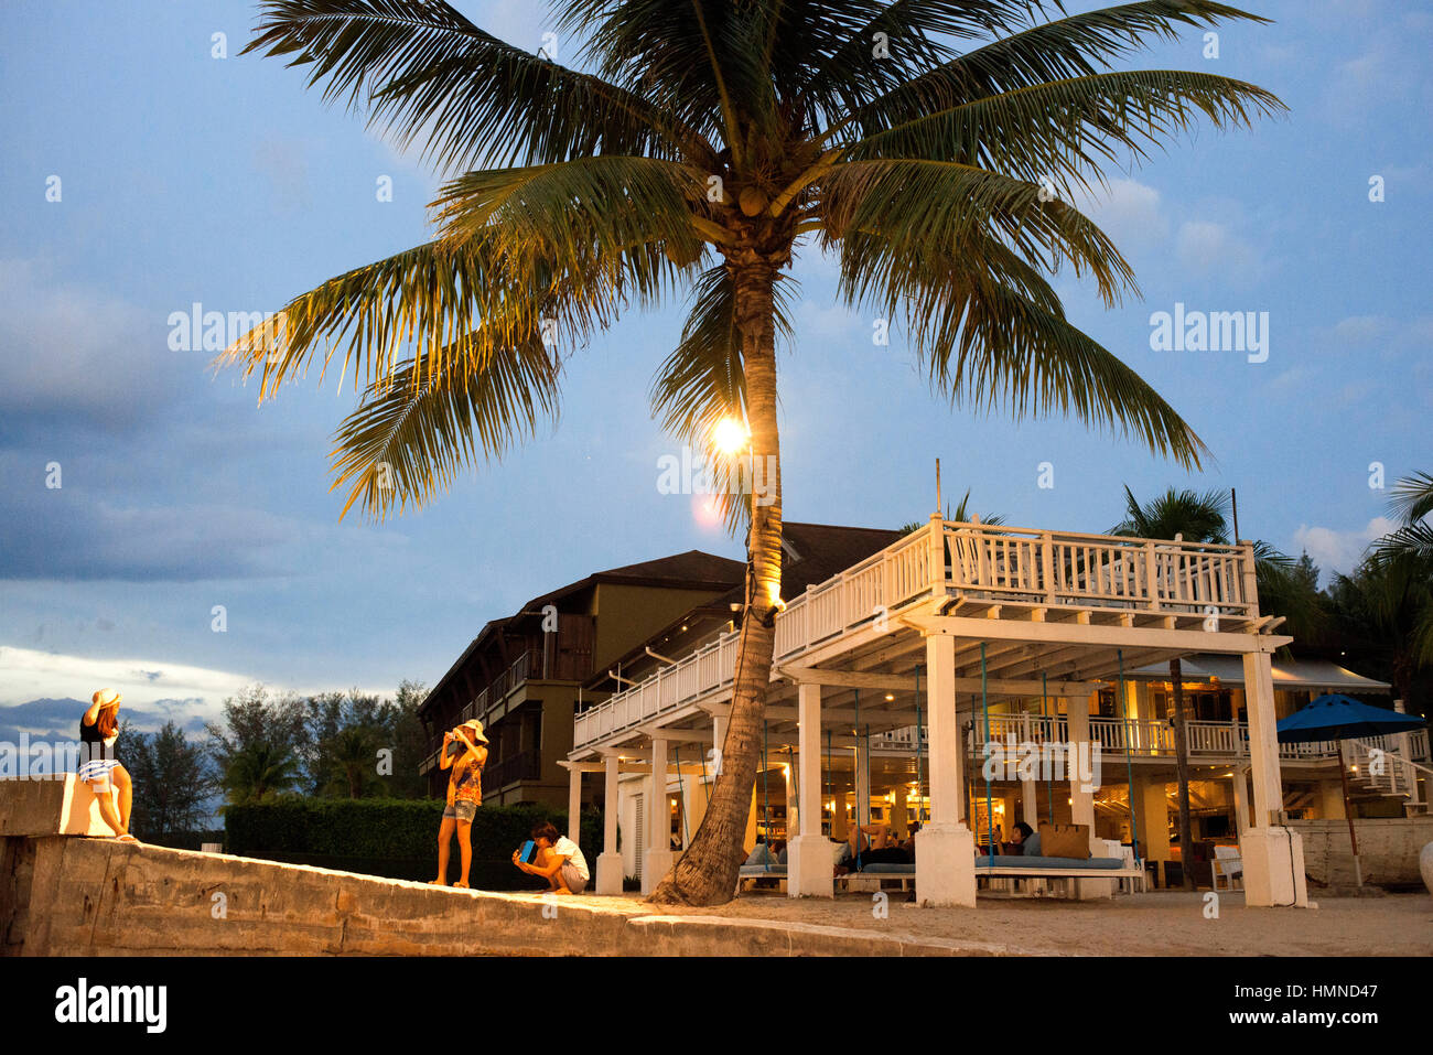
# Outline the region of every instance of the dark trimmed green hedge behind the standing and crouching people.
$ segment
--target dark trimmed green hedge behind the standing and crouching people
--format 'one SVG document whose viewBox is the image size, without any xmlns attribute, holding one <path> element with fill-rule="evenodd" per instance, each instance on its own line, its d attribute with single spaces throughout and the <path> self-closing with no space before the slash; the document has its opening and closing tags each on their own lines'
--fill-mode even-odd
<svg viewBox="0 0 1433 1055">
<path fill-rule="evenodd" d="M 473 818 L 473 886 L 526 889 L 536 880 L 512 864 L 513 850 L 533 826 L 552 821 L 567 834 L 567 811 L 537 804 L 480 806 Z M 241 857 L 287 860 L 394 879 L 418 879 L 437 869 L 440 798 L 278 798 L 225 810 L 224 849 Z M 582 816 L 582 849 L 596 867 L 602 816 Z M 450 879 L 457 879 L 457 840 Z M 540 884 L 540 883 L 539 883 Z"/>
</svg>

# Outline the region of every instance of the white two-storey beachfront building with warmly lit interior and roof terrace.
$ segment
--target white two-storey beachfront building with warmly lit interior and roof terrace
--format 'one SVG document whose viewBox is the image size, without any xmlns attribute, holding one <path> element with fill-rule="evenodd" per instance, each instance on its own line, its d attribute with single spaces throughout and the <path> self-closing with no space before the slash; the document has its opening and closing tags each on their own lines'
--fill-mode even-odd
<svg viewBox="0 0 1433 1055">
<path fill-rule="evenodd" d="M 1171 879 L 1181 847 L 1168 661 L 1179 658 L 1197 843 L 1238 844 L 1250 904 L 1307 902 L 1288 821 L 1341 817 L 1341 781 L 1334 745 L 1280 745 L 1274 725 L 1310 694 L 1389 685 L 1275 659 L 1291 639 L 1260 612 L 1251 543 L 931 517 L 904 536 L 787 525 L 784 552 L 747 847 L 787 841 L 792 896 L 833 893 L 830 839 L 854 823 L 900 834 L 921 821 L 914 879 L 930 904 L 973 904 L 989 874 L 976 847 L 1020 820 L 1083 824 L 1092 853 L 1123 843 L 1131 869 Z M 599 893 L 632 874 L 649 890 L 701 823 L 739 599 L 737 588 L 669 622 L 661 648 L 633 644 L 620 682 L 588 682 L 566 764 L 573 801 L 599 774 L 606 788 Z M 1055 750 L 1079 745 L 1085 754 Z M 1429 760 L 1426 731 L 1346 751 L 1360 813 L 1426 808 L 1427 770 L 1413 765 Z M 1377 775 L 1369 751 L 1386 753 Z M 1075 886 L 1102 896 L 1112 882 Z"/>
</svg>

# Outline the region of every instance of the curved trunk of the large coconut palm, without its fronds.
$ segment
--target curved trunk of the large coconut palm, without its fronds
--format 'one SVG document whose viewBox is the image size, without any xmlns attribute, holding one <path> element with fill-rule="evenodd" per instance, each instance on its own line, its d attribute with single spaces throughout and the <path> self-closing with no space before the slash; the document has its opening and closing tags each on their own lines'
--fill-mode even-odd
<svg viewBox="0 0 1433 1055">
<path fill-rule="evenodd" d="M 741 333 L 747 419 L 751 429 L 751 469 L 762 484 L 762 495 L 751 495 L 747 606 L 737 639 L 737 672 L 727 741 L 721 745 L 721 767 L 692 844 L 652 892 L 651 900 L 662 904 L 725 904 L 732 899 L 742 861 L 751 794 L 757 783 L 762 715 L 767 710 L 775 646 L 775 602 L 781 596 L 775 275 L 775 268 L 767 262 L 744 264 L 734 274 L 737 328 Z"/>
</svg>

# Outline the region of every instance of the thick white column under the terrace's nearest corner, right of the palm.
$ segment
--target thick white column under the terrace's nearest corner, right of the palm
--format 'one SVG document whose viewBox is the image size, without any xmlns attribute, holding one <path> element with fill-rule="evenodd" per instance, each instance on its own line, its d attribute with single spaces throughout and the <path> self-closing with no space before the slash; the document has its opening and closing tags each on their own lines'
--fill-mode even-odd
<svg viewBox="0 0 1433 1055">
<path fill-rule="evenodd" d="M 916 833 L 916 899 L 921 904 L 976 903 L 976 843 L 960 821 L 964 744 L 956 720 L 956 639 L 926 638 L 930 687 L 930 824 Z"/>
</svg>

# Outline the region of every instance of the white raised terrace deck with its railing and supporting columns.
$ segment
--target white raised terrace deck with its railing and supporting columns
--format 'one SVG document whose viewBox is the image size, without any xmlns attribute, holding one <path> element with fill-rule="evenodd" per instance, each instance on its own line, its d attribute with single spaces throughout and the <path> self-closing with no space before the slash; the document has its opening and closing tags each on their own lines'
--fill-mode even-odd
<svg viewBox="0 0 1433 1055">
<path fill-rule="evenodd" d="M 1101 682 L 1195 652 L 1242 659 L 1255 823 L 1244 833 L 1251 906 L 1307 904 L 1303 850 L 1283 824 L 1270 655 L 1290 638 L 1258 612 L 1254 550 L 1235 546 L 1049 532 L 979 522 L 930 525 L 804 595 L 777 616 L 767 704 L 771 744 L 815 760 L 830 745 L 868 750 L 864 734 L 924 725 L 930 821 L 916 836 L 923 904 L 973 906 L 974 833 L 964 814 L 972 701 L 1063 697 L 1086 701 Z M 737 635 L 727 634 L 575 720 L 573 800 L 583 771 L 606 775 L 598 893 L 622 889 L 618 778 L 649 774 L 663 801 L 674 761 L 688 775 L 725 738 Z M 863 735 L 853 735 L 860 728 Z M 1070 744 L 1089 743 L 1086 707 L 1068 708 Z M 686 758 L 674 758 L 694 745 Z M 861 765 L 857 764 L 860 781 Z M 791 896 L 833 894 L 831 844 L 821 834 L 821 767 L 798 765 Z M 866 788 L 868 794 L 868 788 Z M 860 793 L 858 793 L 860 798 Z M 1093 833 L 1093 796 L 1070 781 L 1072 817 Z M 572 811 L 576 816 L 576 810 Z M 643 886 L 671 867 L 665 811 L 649 810 Z M 1095 886 L 1095 880 L 1091 882 Z M 1108 889 L 1108 887 L 1106 887 Z"/>
</svg>

